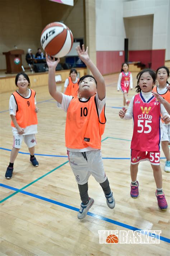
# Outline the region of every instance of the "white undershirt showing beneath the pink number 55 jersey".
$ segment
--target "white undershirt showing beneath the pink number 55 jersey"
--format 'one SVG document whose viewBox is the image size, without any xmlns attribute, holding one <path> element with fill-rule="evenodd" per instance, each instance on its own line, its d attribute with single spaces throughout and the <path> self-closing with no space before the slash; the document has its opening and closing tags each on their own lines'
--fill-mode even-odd
<svg viewBox="0 0 170 256">
<path fill-rule="evenodd" d="M 141 93 L 146 102 L 153 96 L 151 91 L 148 93 L 143 93 L 143 91 L 142 91 Z M 128 107 L 128 110 L 123 118 L 125 120 L 132 119 L 132 117 L 133 117 L 133 100 L 134 100 L 134 96 L 132 97 L 131 102 Z M 166 109 L 164 108 L 164 106 L 162 104 L 161 104 L 161 114 L 162 114 L 162 116 L 164 116 L 164 115 L 169 116 L 169 114 L 167 113 Z M 161 122 L 161 120 L 160 120 L 160 122 Z"/>
</svg>

